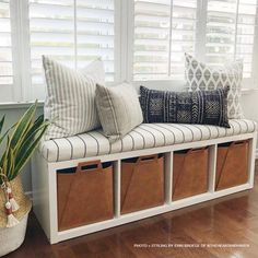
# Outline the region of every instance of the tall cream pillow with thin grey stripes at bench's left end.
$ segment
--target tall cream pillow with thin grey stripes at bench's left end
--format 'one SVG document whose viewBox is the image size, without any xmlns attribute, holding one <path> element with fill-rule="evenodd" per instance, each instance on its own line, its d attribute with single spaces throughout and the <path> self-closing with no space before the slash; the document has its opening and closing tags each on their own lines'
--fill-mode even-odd
<svg viewBox="0 0 258 258">
<path fill-rule="evenodd" d="M 47 83 L 45 118 L 52 124 L 46 140 L 74 136 L 101 126 L 95 107 L 96 83 L 105 84 L 103 62 L 97 59 L 75 71 L 43 56 Z"/>
</svg>

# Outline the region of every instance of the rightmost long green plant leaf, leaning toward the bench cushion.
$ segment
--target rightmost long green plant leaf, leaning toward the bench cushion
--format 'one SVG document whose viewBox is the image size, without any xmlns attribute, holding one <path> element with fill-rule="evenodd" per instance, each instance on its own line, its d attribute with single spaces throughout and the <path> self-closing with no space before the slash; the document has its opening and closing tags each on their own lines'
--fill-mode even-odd
<svg viewBox="0 0 258 258">
<path fill-rule="evenodd" d="M 37 148 L 42 137 L 44 136 L 48 125 L 45 125 L 40 133 L 34 139 L 31 145 L 26 148 L 26 151 L 23 152 L 23 155 L 17 161 L 17 164 L 15 164 L 13 178 L 17 176 L 17 174 L 21 172 L 21 169 L 25 166 L 27 161 L 31 159 L 34 150 Z"/>
</svg>

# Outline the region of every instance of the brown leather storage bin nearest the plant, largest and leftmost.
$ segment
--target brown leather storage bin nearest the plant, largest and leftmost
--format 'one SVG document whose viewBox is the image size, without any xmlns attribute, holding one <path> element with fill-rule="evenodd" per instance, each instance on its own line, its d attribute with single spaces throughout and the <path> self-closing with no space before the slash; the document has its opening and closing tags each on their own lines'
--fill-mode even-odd
<svg viewBox="0 0 258 258">
<path fill-rule="evenodd" d="M 113 165 L 101 161 L 57 171 L 58 230 L 114 218 Z"/>
</svg>

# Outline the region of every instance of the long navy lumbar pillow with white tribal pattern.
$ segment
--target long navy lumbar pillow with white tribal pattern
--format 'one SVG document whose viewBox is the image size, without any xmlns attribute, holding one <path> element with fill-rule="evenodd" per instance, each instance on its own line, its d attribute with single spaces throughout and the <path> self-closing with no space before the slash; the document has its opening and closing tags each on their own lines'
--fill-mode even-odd
<svg viewBox="0 0 258 258">
<path fill-rule="evenodd" d="M 201 124 L 230 128 L 228 90 L 164 92 L 141 86 L 144 122 Z"/>
</svg>

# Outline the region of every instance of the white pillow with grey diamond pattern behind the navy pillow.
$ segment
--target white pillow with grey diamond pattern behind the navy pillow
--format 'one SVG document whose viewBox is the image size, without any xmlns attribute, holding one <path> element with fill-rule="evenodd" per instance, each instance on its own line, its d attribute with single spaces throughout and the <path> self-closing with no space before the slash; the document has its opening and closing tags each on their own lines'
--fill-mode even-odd
<svg viewBox="0 0 258 258">
<path fill-rule="evenodd" d="M 211 91 L 230 86 L 227 96 L 228 118 L 243 118 L 244 115 L 241 106 L 243 61 L 236 60 L 221 69 L 213 69 L 188 54 L 185 56 L 188 91 Z"/>
</svg>

